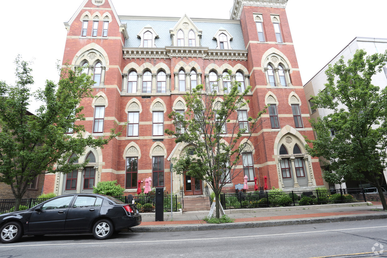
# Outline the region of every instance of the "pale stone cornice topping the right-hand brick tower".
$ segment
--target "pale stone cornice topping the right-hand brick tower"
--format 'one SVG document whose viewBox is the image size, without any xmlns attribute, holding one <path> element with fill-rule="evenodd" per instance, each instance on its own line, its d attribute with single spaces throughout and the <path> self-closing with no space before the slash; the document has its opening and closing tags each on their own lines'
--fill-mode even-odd
<svg viewBox="0 0 387 258">
<path fill-rule="evenodd" d="M 239 20 L 243 6 L 259 6 L 285 8 L 288 0 L 234 0 L 233 8 L 230 10 L 230 20 Z"/>
</svg>

